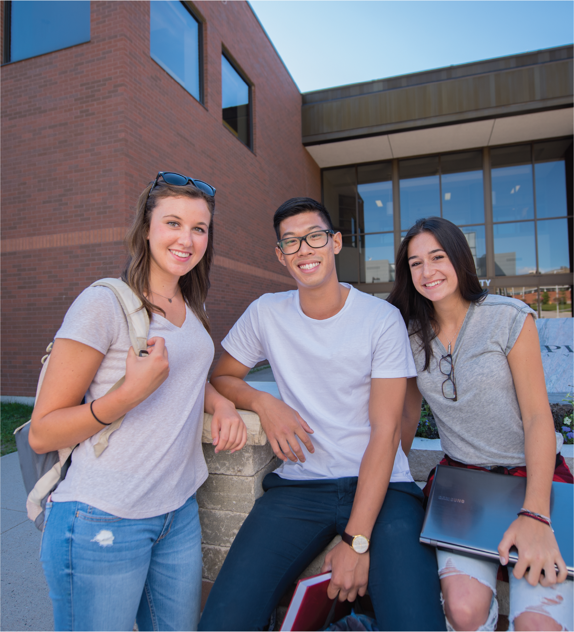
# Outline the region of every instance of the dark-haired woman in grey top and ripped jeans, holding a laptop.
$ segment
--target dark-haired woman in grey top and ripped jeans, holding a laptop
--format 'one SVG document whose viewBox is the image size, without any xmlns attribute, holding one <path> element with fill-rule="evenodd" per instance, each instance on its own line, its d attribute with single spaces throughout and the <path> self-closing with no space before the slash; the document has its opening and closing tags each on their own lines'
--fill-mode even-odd
<svg viewBox="0 0 574 632">
<path fill-rule="evenodd" d="M 419 219 L 406 234 L 388 300 L 409 328 L 418 374 L 407 382 L 404 451 L 424 396 L 446 452 L 442 465 L 527 477 L 529 515 L 508 526 L 498 547 L 501 564 L 508 563 L 510 547 L 518 549 L 509 573 L 510 630 L 572 632 L 574 581 L 566 580 L 546 517 L 552 481 L 574 478 L 554 432 L 536 313 L 522 301 L 483 291 L 464 234 L 440 217 Z M 436 557 L 447 629 L 493 632 L 498 562 L 438 549 Z"/>
</svg>

